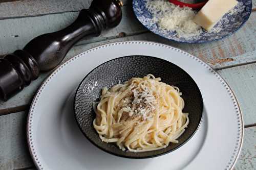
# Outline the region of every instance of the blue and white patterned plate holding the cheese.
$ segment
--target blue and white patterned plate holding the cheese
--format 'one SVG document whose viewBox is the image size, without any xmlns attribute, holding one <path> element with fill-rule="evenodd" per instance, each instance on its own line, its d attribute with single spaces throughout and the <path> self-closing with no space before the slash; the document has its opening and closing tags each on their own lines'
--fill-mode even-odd
<svg viewBox="0 0 256 170">
<path fill-rule="evenodd" d="M 204 43 L 230 36 L 244 25 L 252 9 L 251 0 L 238 0 L 239 3 L 234 7 L 234 12 L 225 14 L 215 26 L 215 28 L 218 28 L 218 32 L 207 32 L 203 29 L 202 33 L 197 36 L 177 37 L 176 32 L 160 29 L 158 24 L 152 20 L 153 16 L 146 8 L 148 1 L 152 0 L 133 0 L 134 13 L 142 25 L 164 38 L 185 43 Z"/>
</svg>

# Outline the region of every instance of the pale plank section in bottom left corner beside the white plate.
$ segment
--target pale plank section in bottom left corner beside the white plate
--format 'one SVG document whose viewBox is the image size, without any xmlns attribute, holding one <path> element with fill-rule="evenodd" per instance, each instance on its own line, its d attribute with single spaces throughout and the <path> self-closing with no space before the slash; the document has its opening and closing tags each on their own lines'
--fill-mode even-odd
<svg viewBox="0 0 256 170">
<path fill-rule="evenodd" d="M 0 116 L 0 169 L 32 167 L 26 136 L 27 112 Z"/>
</svg>

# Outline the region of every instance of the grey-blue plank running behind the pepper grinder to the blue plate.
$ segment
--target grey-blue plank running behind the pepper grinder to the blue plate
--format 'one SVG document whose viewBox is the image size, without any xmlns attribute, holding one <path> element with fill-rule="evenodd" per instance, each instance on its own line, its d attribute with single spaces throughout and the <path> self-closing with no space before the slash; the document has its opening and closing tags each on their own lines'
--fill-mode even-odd
<svg viewBox="0 0 256 170">
<path fill-rule="evenodd" d="M 134 35 L 145 32 L 145 28 L 135 19 L 131 6 L 122 7 L 121 23 L 114 29 L 103 32 L 98 37 L 83 39 L 79 44 L 87 44 L 106 39 L 118 38 L 119 33 Z M 69 26 L 78 12 L 67 12 L 37 17 L 0 20 L 0 54 L 22 49 L 31 39 L 45 33 L 55 32 Z"/>
</svg>

